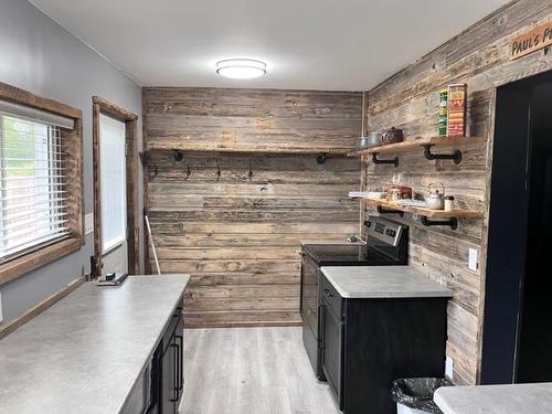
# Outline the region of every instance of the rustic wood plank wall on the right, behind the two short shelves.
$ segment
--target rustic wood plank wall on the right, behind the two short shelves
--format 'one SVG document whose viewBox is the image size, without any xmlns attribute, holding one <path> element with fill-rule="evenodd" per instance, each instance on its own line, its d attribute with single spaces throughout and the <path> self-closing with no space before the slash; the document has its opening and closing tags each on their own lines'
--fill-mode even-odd
<svg viewBox="0 0 552 414">
<path fill-rule="evenodd" d="M 510 42 L 550 20 L 550 1 L 514 1 L 370 91 L 368 129 L 395 126 L 412 139 L 437 135 L 438 91 L 450 83 L 467 83 L 469 135 L 488 140 L 471 146 L 459 166 L 427 161 L 420 151 L 402 157 L 396 169 L 368 161 L 367 187 L 402 183 L 426 193 L 428 183 L 442 182 L 460 206 L 488 213 L 496 87 L 552 68 L 548 50 L 510 61 Z M 454 380 L 460 384 L 479 379 L 487 220 L 461 221 L 453 232 L 424 227 L 411 214 L 401 219 L 411 226 L 412 264 L 455 293 L 448 309 L 447 354 L 455 362 Z M 467 268 L 469 247 L 481 252 L 479 272 Z"/>
</svg>

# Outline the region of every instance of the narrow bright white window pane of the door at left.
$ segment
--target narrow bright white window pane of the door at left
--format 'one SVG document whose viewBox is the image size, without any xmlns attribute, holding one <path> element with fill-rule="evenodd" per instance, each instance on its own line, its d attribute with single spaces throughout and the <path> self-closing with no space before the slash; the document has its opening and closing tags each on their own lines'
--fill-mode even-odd
<svg viewBox="0 0 552 414">
<path fill-rule="evenodd" d="M 99 129 L 102 248 L 106 253 L 127 238 L 126 131 L 125 123 L 103 114 Z"/>
</svg>

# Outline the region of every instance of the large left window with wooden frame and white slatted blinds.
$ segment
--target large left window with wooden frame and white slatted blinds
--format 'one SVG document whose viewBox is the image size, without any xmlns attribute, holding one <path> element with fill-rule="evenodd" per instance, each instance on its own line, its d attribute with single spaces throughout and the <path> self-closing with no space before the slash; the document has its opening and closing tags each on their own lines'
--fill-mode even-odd
<svg viewBox="0 0 552 414">
<path fill-rule="evenodd" d="M 0 285 L 84 244 L 82 113 L 0 83 Z"/>
</svg>

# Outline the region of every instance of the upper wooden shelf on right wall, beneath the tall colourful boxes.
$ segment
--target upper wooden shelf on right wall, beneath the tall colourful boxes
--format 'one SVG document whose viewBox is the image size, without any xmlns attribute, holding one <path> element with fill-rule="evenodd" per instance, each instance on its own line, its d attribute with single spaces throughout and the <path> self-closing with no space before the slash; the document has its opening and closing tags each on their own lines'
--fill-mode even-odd
<svg viewBox="0 0 552 414">
<path fill-rule="evenodd" d="M 390 144 L 386 146 L 360 149 L 349 152 L 349 157 L 361 157 L 372 155 L 401 155 L 420 150 L 422 147 L 432 146 L 435 151 L 446 149 L 463 149 L 474 144 L 486 142 L 485 137 L 463 137 L 463 138 L 447 138 L 447 137 L 429 137 L 429 138 L 415 138 L 406 141 Z"/>
</svg>

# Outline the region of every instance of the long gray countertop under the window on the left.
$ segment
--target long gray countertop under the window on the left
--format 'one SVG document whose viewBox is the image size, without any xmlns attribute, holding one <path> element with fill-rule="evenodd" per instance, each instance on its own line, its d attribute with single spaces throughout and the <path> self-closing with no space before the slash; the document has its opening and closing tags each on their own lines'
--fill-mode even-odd
<svg viewBox="0 0 552 414">
<path fill-rule="evenodd" d="M 189 278 L 86 283 L 2 339 L 0 413 L 118 413 Z"/>
</svg>

